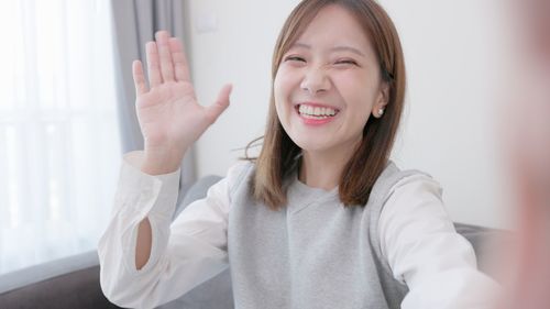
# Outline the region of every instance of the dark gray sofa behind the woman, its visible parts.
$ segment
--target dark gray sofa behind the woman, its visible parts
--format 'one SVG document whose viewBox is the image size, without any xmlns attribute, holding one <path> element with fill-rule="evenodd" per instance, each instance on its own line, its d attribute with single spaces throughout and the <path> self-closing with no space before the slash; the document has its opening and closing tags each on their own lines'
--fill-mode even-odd
<svg viewBox="0 0 550 309">
<path fill-rule="evenodd" d="M 208 176 L 197 181 L 179 203 L 177 216 L 188 203 L 206 195 L 206 190 L 220 178 Z M 455 223 L 474 246 L 480 268 L 492 275 L 486 256 L 495 242 L 503 240 L 499 230 Z M 2 309 L 62 309 L 62 308 L 119 308 L 107 300 L 99 286 L 98 256 L 95 251 L 33 266 L 0 276 L 0 308 Z M 229 271 L 196 287 L 185 296 L 160 309 L 227 309 L 233 308 Z"/>
</svg>

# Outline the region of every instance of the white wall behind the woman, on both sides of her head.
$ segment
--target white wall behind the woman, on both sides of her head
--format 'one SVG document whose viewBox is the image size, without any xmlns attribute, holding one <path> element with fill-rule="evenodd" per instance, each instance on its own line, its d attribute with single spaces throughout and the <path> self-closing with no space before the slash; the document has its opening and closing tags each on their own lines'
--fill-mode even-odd
<svg viewBox="0 0 550 309">
<path fill-rule="evenodd" d="M 433 175 L 453 220 L 508 225 L 495 132 L 499 29 L 493 0 L 382 0 L 399 31 L 407 111 L 394 159 Z M 198 176 L 224 175 L 262 135 L 276 36 L 297 0 L 188 0 L 187 41 L 201 103 L 233 82 L 230 109 L 198 141 Z M 217 29 L 200 32 L 216 20 Z"/>
</svg>

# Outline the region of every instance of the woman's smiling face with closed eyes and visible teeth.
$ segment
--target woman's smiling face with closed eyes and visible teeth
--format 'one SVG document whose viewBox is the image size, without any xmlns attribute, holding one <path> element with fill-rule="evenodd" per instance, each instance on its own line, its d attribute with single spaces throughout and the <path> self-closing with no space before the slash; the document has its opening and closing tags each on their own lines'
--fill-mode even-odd
<svg viewBox="0 0 550 309">
<path fill-rule="evenodd" d="M 323 8 L 284 54 L 274 81 L 277 115 L 306 152 L 353 151 L 387 98 L 369 36 L 339 5 Z"/>
</svg>

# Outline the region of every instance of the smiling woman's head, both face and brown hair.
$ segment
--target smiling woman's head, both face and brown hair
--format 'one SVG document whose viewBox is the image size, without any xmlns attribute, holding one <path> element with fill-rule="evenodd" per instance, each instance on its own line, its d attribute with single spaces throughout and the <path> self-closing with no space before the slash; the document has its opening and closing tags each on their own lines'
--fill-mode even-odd
<svg viewBox="0 0 550 309">
<path fill-rule="evenodd" d="M 294 25 L 295 35 L 279 38 L 276 47 L 276 113 L 270 112 L 273 126 L 266 131 L 265 140 L 275 139 L 278 143 L 292 140 L 294 145 L 290 143 L 290 150 L 282 154 L 282 162 L 289 163 L 290 156 L 301 152 L 301 180 L 324 189 L 340 185 L 340 198 L 350 206 L 366 203 L 386 165 L 403 110 L 405 69 L 399 38 L 387 15 L 376 12 L 381 27 L 377 32 L 371 20 L 362 18 L 367 14 L 367 5 L 353 2 L 344 5 L 348 10 L 334 4 L 319 11 L 323 8 L 321 2 L 305 3 L 292 16 L 300 22 Z M 381 40 L 383 33 L 387 41 Z M 381 42 L 394 47 L 394 53 L 385 53 L 388 46 Z M 330 117 L 315 115 L 327 109 Z M 384 111 L 387 111 L 384 121 L 377 121 Z M 284 131 L 275 130 L 274 125 L 279 123 Z M 272 151 L 272 144 L 265 143 L 258 158 L 258 175 L 278 165 L 273 162 L 277 158 L 268 155 Z M 351 153 L 355 155 L 350 157 Z M 355 177 L 352 170 L 361 170 L 361 177 Z M 277 185 L 264 186 L 261 177 L 255 180 L 256 196 L 276 208 L 270 199 Z"/>
</svg>

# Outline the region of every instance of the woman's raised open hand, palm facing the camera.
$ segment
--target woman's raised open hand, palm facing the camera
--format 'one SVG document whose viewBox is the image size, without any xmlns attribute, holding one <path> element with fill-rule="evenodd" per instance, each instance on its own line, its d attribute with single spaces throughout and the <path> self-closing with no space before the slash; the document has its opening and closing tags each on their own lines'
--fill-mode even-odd
<svg viewBox="0 0 550 309">
<path fill-rule="evenodd" d="M 226 85 L 209 107 L 197 103 L 182 42 L 166 31 L 146 47 L 148 87 L 140 60 L 132 64 L 138 120 L 144 139 L 142 172 L 151 175 L 176 170 L 185 152 L 229 106 Z"/>
</svg>

